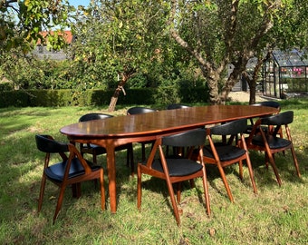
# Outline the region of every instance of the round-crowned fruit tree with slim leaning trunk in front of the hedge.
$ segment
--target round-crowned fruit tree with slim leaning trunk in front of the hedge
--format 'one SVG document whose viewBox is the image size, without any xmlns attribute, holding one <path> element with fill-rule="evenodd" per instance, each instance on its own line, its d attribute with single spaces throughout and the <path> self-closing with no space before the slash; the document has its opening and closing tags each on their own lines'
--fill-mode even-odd
<svg viewBox="0 0 308 245">
<path fill-rule="evenodd" d="M 81 9 L 79 21 L 72 26 L 77 41 L 72 46 L 72 59 L 92 64 L 104 72 L 104 78 L 118 80 L 109 111 L 114 111 L 120 92 L 135 73 L 149 70 L 159 62 L 167 17 L 162 1 L 101 0 Z M 118 77 L 118 79 L 117 79 Z"/>
</svg>

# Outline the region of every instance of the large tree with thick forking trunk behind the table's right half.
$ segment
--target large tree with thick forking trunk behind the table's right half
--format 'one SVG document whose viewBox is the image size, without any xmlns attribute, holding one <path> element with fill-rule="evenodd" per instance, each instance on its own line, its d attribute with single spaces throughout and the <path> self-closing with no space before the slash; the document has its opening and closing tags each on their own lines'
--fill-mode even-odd
<svg viewBox="0 0 308 245">
<path fill-rule="evenodd" d="M 292 0 L 171 1 L 170 34 L 200 66 L 211 103 L 226 101 L 249 59 L 272 45 L 267 34 L 290 5 Z M 234 69 L 226 76 L 229 64 Z"/>
</svg>

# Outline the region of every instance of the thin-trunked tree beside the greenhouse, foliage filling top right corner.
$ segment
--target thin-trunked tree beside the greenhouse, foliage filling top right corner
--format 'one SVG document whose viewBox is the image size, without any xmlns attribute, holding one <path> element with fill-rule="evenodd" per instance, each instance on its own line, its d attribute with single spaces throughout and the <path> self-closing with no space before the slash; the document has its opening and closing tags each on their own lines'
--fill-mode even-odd
<svg viewBox="0 0 308 245">
<path fill-rule="evenodd" d="M 246 70 L 242 73 L 250 88 L 250 104 L 255 103 L 257 78 L 262 65 L 270 58 L 273 49 L 279 48 L 286 51 L 294 47 L 303 49 L 308 46 L 308 32 L 305 27 L 308 22 L 307 11 L 307 1 L 293 1 L 275 12 L 272 19 L 273 27 L 253 53 L 256 58 L 253 71 L 249 73 Z"/>
</svg>

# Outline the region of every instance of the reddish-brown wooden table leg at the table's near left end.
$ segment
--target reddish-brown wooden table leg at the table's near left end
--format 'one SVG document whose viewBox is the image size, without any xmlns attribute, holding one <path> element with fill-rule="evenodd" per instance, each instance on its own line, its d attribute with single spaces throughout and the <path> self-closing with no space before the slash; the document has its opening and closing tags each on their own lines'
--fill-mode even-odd
<svg viewBox="0 0 308 245">
<path fill-rule="evenodd" d="M 111 200 L 111 212 L 117 211 L 117 190 L 116 190 L 116 164 L 115 164 L 115 153 L 114 145 L 108 143 L 106 147 L 107 152 L 107 170 L 108 170 L 108 188 L 109 197 Z"/>
</svg>

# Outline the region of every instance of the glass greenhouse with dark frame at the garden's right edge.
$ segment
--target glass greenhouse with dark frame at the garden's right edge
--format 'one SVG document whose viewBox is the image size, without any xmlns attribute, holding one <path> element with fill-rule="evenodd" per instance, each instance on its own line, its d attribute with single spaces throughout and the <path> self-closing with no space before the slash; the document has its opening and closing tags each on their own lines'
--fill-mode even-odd
<svg viewBox="0 0 308 245">
<path fill-rule="evenodd" d="M 308 59 L 304 52 L 274 50 L 264 65 L 263 93 L 281 99 L 308 95 Z"/>
</svg>

